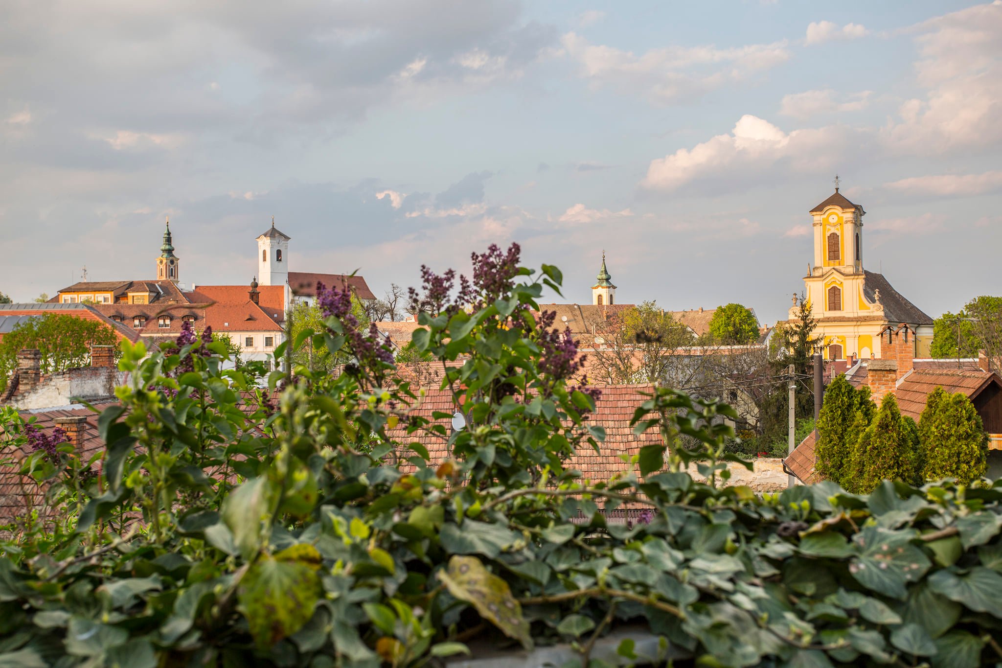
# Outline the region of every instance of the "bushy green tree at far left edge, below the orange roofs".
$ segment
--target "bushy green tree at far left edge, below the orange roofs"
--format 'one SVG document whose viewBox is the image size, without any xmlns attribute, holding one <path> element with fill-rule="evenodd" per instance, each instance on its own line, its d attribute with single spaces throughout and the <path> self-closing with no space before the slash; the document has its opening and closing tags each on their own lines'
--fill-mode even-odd
<svg viewBox="0 0 1002 668">
<path fill-rule="evenodd" d="M 25 349 L 41 353 L 41 372 L 55 374 L 90 364 L 91 346 L 116 346 L 115 332 L 103 322 L 62 313 L 46 313 L 19 322 L 0 342 L 0 383 L 17 368 Z"/>
</svg>

